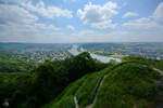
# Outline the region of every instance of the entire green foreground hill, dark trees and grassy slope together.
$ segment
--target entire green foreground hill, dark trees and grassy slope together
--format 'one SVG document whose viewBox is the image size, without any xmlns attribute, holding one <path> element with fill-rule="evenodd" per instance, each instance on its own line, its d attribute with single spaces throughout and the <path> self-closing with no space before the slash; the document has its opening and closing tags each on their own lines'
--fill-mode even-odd
<svg viewBox="0 0 163 108">
<path fill-rule="evenodd" d="M 0 72 L 0 108 L 163 108 L 162 70 L 162 60 L 103 64 L 87 52 L 46 60 L 27 72 Z"/>
</svg>

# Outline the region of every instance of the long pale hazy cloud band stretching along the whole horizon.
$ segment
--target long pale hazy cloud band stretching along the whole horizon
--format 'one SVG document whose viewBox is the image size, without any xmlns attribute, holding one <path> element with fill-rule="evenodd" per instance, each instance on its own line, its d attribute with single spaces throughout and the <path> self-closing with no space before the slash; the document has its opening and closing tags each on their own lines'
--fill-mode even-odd
<svg viewBox="0 0 163 108">
<path fill-rule="evenodd" d="M 48 26 L 48 25 L 47 25 Z M 0 26 L 1 27 L 1 26 Z M 9 28 L 9 27 L 8 27 Z M 43 28 L 43 27 L 42 27 Z M 11 30 L 9 30 L 11 29 Z M 9 28 L 5 32 L 0 32 L 1 42 L 34 42 L 34 43 L 63 43 L 63 42 L 126 42 L 126 41 L 161 41 L 163 40 L 161 31 L 111 31 L 99 32 L 96 30 L 82 30 L 65 33 L 62 30 L 47 31 L 36 26 L 26 26 Z M 154 37 L 153 37 L 154 36 Z"/>
</svg>

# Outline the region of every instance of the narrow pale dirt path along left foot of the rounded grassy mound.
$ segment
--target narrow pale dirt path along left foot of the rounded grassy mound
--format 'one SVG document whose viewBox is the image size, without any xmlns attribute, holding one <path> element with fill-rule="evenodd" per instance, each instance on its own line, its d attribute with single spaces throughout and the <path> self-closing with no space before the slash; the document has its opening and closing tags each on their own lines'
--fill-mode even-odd
<svg viewBox="0 0 163 108">
<path fill-rule="evenodd" d="M 109 76 L 109 75 L 105 75 L 105 76 L 103 77 L 102 81 L 100 82 L 100 85 L 99 85 L 99 87 L 98 87 L 98 91 L 97 91 L 97 93 L 96 93 L 96 96 L 95 96 L 95 99 L 93 99 L 92 104 L 86 106 L 86 108 L 92 108 L 92 107 L 93 107 L 93 105 L 96 104 L 96 102 L 97 102 L 97 99 L 98 99 L 99 91 L 100 91 L 100 89 L 101 89 L 101 86 L 102 86 L 102 83 L 103 83 L 104 79 L 105 79 L 108 76 Z"/>
</svg>

